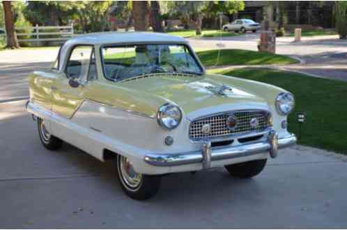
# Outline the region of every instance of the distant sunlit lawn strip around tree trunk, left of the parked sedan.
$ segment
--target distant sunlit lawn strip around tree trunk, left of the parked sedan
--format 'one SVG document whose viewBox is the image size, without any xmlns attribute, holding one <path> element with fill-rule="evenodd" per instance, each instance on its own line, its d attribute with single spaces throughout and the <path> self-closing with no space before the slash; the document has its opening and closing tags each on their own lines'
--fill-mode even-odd
<svg viewBox="0 0 347 230">
<path fill-rule="evenodd" d="M 219 36 L 222 37 L 232 37 L 232 36 L 238 36 L 242 35 L 240 33 L 233 33 L 233 32 L 224 32 L 224 31 L 218 31 L 218 30 L 203 30 L 201 31 L 201 35 L 195 35 L 195 30 L 187 29 L 187 30 L 179 30 L 179 31 L 167 31 L 167 34 L 170 35 L 176 35 L 182 38 L 216 38 Z"/>
</svg>

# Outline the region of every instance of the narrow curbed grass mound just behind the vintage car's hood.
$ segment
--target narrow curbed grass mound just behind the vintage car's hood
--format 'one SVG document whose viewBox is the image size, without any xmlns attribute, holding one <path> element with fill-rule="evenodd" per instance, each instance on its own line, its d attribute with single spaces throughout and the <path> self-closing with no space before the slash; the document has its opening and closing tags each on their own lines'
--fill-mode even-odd
<svg viewBox="0 0 347 230">
<path fill-rule="evenodd" d="M 196 54 L 203 65 L 208 67 L 215 65 L 218 51 L 199 51 Z M 278 54 L 243 49 L 222 49 L 218 65 L 288 65 L 293 63 L 298 63 L 298 60 Z"/>
</svg>

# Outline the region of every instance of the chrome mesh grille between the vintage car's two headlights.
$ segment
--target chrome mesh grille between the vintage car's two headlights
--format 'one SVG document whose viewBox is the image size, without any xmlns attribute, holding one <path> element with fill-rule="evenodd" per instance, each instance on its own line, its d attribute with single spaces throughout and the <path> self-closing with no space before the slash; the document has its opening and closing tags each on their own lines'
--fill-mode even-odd
<svg viewBox="0 0 347 230">
<path fill-rule="evenodd" d="M 226 120 L 229 116 L 236 117 L 237 125 L 231 130 L 226 126 Z M 269 127 L 268 118 L 270 113 L 263 110 L 238 110 L 228 113 L 211 115 L 194 120 L 190 124 L 191 140 L 209 140 L 214 138 L 227 138 L 235 134 L 259 133 Z M 250 121 L 256 117 L 259 124 L 256 128 L 252 128 Z M 204 124 L 210 124 L 210 133 L 204 134 L 201 128 Z"/>
</svg>

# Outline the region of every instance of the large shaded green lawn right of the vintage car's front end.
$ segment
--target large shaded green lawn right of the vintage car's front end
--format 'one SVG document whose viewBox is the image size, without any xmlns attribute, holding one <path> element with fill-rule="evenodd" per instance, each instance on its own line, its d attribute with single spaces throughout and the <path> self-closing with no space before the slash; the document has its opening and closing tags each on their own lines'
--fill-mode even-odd
<svg viewBox="0 0 347 230">
<path fill-rule="evenodd" d="M 347 154 L 346 82 L 270 69 L 229 69 L 220 73 L 270 83 L 292 92 L 296 105 L 288 117 L 289 131 L 298 135 L 295 113 L 307 113 L 298 143 Z"/>
</svg>

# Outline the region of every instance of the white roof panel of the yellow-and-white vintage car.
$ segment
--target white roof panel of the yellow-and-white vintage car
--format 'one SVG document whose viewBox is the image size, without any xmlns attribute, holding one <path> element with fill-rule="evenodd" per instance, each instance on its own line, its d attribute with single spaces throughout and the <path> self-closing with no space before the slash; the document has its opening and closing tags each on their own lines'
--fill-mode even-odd
<svg viewBox="0 0 347 230">
<path fill-rule="evenodd" d="M 187 42 L 185 39 L 167 33 L 146 32 L 104 32 L 79 35 L 66 44 L 112 44 L 124 42 Z"/>
</svg>

